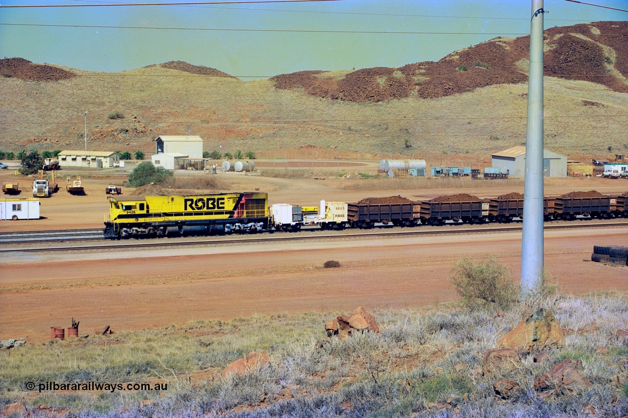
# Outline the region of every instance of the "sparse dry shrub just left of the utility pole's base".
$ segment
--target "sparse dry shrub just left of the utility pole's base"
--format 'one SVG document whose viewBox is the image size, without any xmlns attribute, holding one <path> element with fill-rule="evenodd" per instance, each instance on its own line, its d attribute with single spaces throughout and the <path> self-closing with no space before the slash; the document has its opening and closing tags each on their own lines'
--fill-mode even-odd
<svg viewBox="0 0 628 418">
<path fill-rule="evenodd" d="M 466 257 L 453 265 L 452 286 L 470 308 L 480 305 L 507 308 L 519 300 L 511 272 L 495 257 L 475 264 Z"/>
</svg>

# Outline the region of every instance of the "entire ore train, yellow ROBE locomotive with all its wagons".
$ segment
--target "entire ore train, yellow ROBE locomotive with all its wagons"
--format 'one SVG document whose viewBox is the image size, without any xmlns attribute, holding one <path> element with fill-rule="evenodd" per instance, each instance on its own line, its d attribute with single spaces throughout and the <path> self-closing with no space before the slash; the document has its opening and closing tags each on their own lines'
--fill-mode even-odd
<svg viewBox="0 0 628 418">
<path fill-rule="evenodd" d="M 413 201 L 403 196 L 370 197 L 355 203 L 321 200 L 319 206 L 275 203 L 268 193 L 193 196 L 109 196 L 106 238 L 163 237 L 168 232 L 247 233 L 301 227 L 342 229 L 395 225 L 414 227 L 460 223 L 512 222 L 523 217 L 523 196 L 508 193 L 482 199 L 465 193 Z M 544 197 L 544 219 L 628 217 L 628 191 L 602 195 L 595 190 Z"/>
</svg>

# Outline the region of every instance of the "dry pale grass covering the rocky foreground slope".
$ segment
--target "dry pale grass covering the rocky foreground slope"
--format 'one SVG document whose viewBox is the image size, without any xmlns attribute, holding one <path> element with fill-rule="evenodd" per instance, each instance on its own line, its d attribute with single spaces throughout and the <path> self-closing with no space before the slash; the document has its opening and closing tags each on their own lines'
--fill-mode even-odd
<svg viewBox="0 0 628 418">
<path fill-rule="evenodd" d="M 566 335 L 566 346 L 546 350 L 534 363 L 522 355 L 511 372 L 482 375 L 482 353 L 538 306 L 551 309 Z M 459 406 L 465 417 L 599 416 L 628 414 L 628 296 L 593 294 L 518 303 L 495 317 L 455 304 L 425 309 L 374 311 L 379 334 L 357 334 L 315 348 L 323 324 L 338 313 L 252 316 L 232 321 L 199 321 L 158 330 L 121 332 L 111 337 L 58 341 L 0 351 L 0 406 L 25 402 L 70 407 L 73 416 L 452 416 L 430 409 L 450 395 L 467 393 Z M 222 377 L 224 367 L 249 351 L 266 351 L 271 366 L 249 375 Z M 534 377 L 564 358 L 582 360 L 592 389 L 578 396 L 540 400 Z M 466 364 L 462 372 L 455 366 Z M 203 371 L 198 375 L 198 371 Z M 502 402 L 491 385 L 499 377 L 519 382 L 522 391 Z M 610 381 L 619 377 L 620 385 Z M 26 396 L 24 382 L 168 382 L 156 392 L 46 392 Z M 140 409 L 139 400 L 153 399 Z"/>
</svg>

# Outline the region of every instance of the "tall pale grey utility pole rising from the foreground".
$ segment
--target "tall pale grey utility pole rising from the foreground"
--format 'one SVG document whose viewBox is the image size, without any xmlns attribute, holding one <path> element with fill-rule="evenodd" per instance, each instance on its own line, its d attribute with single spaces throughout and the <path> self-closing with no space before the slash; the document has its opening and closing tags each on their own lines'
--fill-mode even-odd
<svg viewBox="0 0 628 418">
<path fill-rule="evenodd" d="M 521 296 L 543 277 L 543 0 L 532 0 L 526 178 L 523 192 Z"/>
</svg>

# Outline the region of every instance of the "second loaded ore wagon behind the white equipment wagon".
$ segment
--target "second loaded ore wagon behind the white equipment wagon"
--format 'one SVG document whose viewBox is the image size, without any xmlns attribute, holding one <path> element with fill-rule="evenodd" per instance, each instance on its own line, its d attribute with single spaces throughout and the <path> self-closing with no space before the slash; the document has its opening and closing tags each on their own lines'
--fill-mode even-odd
<svg viewBox="0 0 628 418">
<path fill-rule="evenodd" d="M 444 225 L 447 220 L 484 223 L 489 219 L 489 201 L 465 193 L 438 196 L 422 201 L 418 206 L 421 223 L 430 225 Z"/>
</svg>

